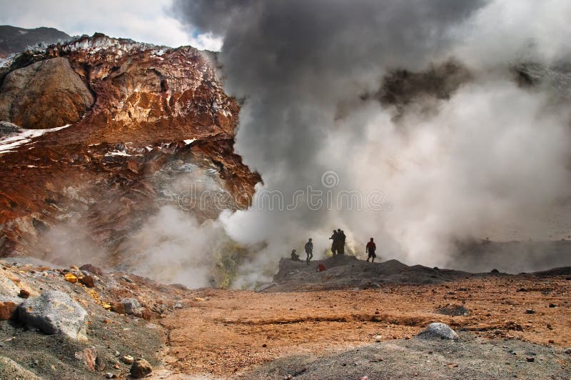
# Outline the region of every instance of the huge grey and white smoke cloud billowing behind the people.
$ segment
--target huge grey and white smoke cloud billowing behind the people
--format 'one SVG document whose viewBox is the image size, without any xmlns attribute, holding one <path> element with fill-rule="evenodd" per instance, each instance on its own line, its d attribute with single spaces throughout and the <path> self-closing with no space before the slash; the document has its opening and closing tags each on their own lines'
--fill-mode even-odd
<svg viewBox="0 0 571 380">
<path fill-rule="evenodd" d="M 447 264 L 452 238 L 546 212 L 570 184 L 569 115 L 547 112 L 549 90 L 517 87 L 509 66 L 565 56 L 570 33 L 560 14 L 569 8 L 557 0 L 175 1 L 189 29 L 224 38 L 226 91 L 246 99 L 236 150 L 260 171 L 260 190 L 288 199 L 308 185 L 323 189 L 321 174 L 334 170 L 343 189 L 382 189 L 395 207 L 238 211 L 226 216 L 228 232 L 268 242 L 258 267 L 309 234 L 324 249 L 333 226 L 352 229 L 352 241 L 380 236 L 399 259 Z M 431 99 L 434 114 L 415 99 L 395 121 L 387 104 L 363 100 L 396 69 L 426 72 L 450 59 L 471 80 Z M 540 159 L 531 162 L 533 154 Z M 537 175 L 542 184 L 528 189 Z"/>
</svg>

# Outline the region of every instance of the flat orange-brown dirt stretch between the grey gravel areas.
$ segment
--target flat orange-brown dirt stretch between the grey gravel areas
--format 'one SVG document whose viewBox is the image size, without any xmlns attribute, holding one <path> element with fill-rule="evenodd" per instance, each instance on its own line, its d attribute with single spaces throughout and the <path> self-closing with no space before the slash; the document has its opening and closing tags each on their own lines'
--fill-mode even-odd
<svg viewBox="0 0 571 380">
<path fill-rule="evenodd" d="M 268 294 L 197 291 L 191 307 L 162 320 L 170 331 L 166 364 L 186 374 L 230 376 L 283 356 L 370 344 L 377 335 L 407 339 L 433 321 L 483 339 L 571 346 L 566 278 L 473 276 L 443 284 Z M 469 314 L 437 312 L 447 305 L 464 306 Z"/>
</svg>

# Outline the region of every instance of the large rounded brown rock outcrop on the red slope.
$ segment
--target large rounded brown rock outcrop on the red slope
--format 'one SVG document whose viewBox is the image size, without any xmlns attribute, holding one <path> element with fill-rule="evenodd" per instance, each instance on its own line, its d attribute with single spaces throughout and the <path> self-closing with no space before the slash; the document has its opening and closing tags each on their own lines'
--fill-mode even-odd
<svg viewBox="0 0 571 380">
<path fill-rule="evenodd" d="M 39 61 L 12 71 L 0 89 L 0 120 L 28 129 L 73 124 L 94 96 L 68 59 Z"/>
</svg>

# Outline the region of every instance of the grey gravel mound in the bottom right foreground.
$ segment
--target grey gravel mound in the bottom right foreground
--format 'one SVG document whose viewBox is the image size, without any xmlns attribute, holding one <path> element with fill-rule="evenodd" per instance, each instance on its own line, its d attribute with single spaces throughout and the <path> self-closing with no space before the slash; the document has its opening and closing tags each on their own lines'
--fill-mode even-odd
<svg viewBox="0 0 571 380">
<path fill-rule="evenodd" d="M 481 339 L 464 332 L 460 341 L 413 337 L 329 356 L 288 356 L 235 378 L 569 379 L 570 359 L 562 349 L 517 339 Z"/>
</svg>

